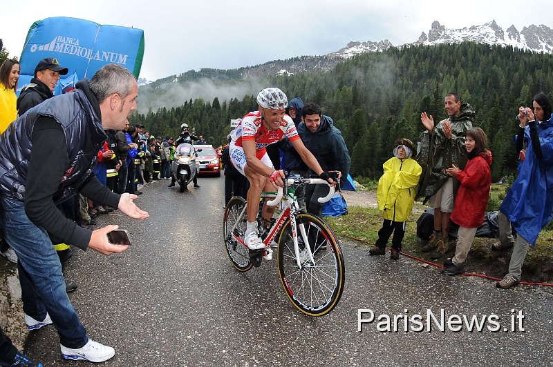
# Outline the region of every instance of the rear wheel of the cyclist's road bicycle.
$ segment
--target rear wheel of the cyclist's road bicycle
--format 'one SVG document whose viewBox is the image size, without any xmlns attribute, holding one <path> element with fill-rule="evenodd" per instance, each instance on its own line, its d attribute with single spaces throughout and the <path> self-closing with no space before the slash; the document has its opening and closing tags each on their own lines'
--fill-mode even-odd
<svg viewBox="0 0 553 367">
<path fill-rule="evenodd" d="M 252 268 L 252 260 L 250 259 L 250 251 L 246 246 L 236 241 L 232 237 L 232 228 L 234 224 L 234 235 L 240 238 L 244 238 L 246 230 L 246 217 L 245 211 L 243 215 L 241 212 L 246 205 L 246 201 L 241 197 L 233 197 L 229 200 L 227 207 L 225 208 L 225 218 L 223 219 L 223 236 L 225 240 L 225 249 L 227 255 L 229 255 L 230 262 L 240 271 L 247 271 Z"/>
</svg>

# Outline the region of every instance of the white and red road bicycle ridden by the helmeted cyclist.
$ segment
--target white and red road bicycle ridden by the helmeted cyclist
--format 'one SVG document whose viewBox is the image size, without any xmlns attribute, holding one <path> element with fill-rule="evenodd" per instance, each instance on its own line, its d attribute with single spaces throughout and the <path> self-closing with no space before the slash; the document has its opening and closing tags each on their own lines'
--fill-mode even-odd
<svg viewBox="0 0 553 367">
<path fill-rule="evenodd" d="M 261 195 L 266 199 L 274 198 L 267 204 L 280 204 L 281 211 L 270 228 L 264 228 L 258 217 L 259 233 L 266 248 L 277 248 L 279 277 L 292 304 L 306 315 L 326 315 L 338 304 L 344 290 L 344 257 L 328 224 L 317 215 L 300 210 L 295 194 L 300 186 L 328 182 L 303 177 L 290 177 L 284 181 L 284 188 L 279 188 L 278 192 L 263 192 Z M 283 192 L 286 192 L 285 197 Z M 330 188 L 328 195 L 318 200 L 324 203 L 332 195 L 334 190 Z M 250 250 L 245 245 L 246 222 L 246 201 L 233 197 L 225 208 L 223 234 L 227 255 L 234 268 L 241 272 L 261 266 L 265 252 L 263 248 Z"/>
</svg>

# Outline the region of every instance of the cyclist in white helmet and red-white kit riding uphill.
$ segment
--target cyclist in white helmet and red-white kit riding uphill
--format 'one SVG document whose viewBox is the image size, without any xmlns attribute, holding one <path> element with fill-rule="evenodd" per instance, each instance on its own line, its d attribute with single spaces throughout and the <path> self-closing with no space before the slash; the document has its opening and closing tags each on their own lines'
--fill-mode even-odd
<svg viewBox="0 0 553 367">
<path fill-rule="evenodd" d="M 236 169 L 250 181 L 247 191 L 247 226 L 244 241 L 250 250 L 261 250 L 265 244 L 257 233 L 256 217 L 259 212 L 259 199 L 263 190 L 284 186 L 284 172 L 275 170 L 265 148 L 288 137 L 292 146 L 309 168 L 321 179 L 326 179 L 332 186 L 336 183 L 324 172 L 317 159 L 299 139 L 294 121 L 285 115 L 288 98 L 279 88 L 265 88 L 257 95 L 259 110 L 245 115 L 241 123 L 230 133 L 232 141 L 229 145 L 230 159 Z M 274 207 L 263 206 L 261 217 L 269 221 L 274 213 Z M 272 250 L 266 248 L 265 259 L 272 259 Z"/>
</svg>

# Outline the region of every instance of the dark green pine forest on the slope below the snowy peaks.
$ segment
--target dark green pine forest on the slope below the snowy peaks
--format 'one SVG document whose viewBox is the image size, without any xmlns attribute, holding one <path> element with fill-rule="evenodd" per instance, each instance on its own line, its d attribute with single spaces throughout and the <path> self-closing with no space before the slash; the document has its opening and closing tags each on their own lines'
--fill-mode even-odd
<svg viewBox="0 0 553 367">
<path fill-rule="evenodd" d="M 529 106 L 538 92 L 553 97 L 553 55 L 470 42 L 389 48 L 352 57 L 327 72 L 272 76 L 264 82 L 281 88 L 288 99 L 318 103 L 344 135 L 351 175 L 372 179 L 382 175 L 395 139 L 418 141 L 421 112 L 437 123 L 447 117 L 444 96 L 457 92 L 476 110 L 474 126 L 487 134 L 495 182 L 516 173 L 518 106 Z M 135 113 L 130 120 L 163 137 L 178 135 L 186 122 L 219 145 L 226 142 L 230 119 L 256 109 L 254 95 L 190 99 L 176 108 Z"/>
</svg>

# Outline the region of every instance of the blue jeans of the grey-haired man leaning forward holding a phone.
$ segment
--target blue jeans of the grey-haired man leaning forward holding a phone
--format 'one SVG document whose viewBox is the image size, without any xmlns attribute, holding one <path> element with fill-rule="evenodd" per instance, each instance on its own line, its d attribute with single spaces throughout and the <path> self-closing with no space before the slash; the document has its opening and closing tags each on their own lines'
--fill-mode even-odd
<svg viewBox="0 0 553 367">
<path fill-rule="evenodd" d="M 62 264 L 48 233 L 30 221 L 22 201 L 2 197 L 1 204 L 6 239 L 25 270 L 19 275 L 25 313 L 42 321 L 48 312 L 60 343 L 67 348 L 81 348 L 88 343 L 86 330 L 65 292 Z"/>
</svg>

